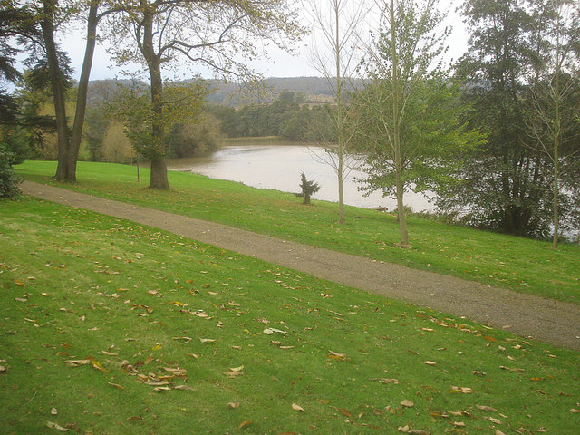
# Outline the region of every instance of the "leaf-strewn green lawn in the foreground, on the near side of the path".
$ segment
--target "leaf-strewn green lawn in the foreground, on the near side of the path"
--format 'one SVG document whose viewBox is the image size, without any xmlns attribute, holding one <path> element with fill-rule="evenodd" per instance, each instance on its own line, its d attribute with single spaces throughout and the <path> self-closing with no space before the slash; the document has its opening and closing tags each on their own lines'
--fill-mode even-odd
<svg viewBox="0 0 580 435">
<path fill-rule="evenodd" d="M 34 198 L 0 208 L 3 434 L 580 426 L 574 351 L 121 219 Z M 166 369 L 181 370 L 169 390 L 143 383 Z"/>
</svg>

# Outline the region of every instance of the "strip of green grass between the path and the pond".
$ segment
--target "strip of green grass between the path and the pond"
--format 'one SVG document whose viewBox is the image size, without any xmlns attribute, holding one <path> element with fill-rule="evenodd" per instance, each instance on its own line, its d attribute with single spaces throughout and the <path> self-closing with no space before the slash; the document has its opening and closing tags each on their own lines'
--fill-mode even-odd
<svg viewBox="0 0 580 435">
<path fill-rule="evenodd" d="M 314 200 L 304 207 L 293 194 L 253 189 L 240 183 L 169 172 L 172 190 L 147 189 L 149 172 L 123 165 L 80 162 L 78 183 L 54 182 L 55 164 L 27 161 L 16 167 L 27 179 L 63 186 L 105 198 L 213 220 L 270 236 L 326 247 L 357 256 L 580 303 L 580 247 L 557 250 L 543 241 L 510 237 L 466 227 L 409 218 L 411 249 L 395 247 L 399 228 L 394 216 L 346 208 L 337 224 L 336 204 Z"/>
</svg>

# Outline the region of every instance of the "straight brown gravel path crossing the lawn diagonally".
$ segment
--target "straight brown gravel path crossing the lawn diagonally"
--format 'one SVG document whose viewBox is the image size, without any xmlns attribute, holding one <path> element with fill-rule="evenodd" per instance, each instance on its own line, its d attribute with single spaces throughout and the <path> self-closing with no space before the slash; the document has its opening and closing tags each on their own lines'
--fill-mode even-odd
<svg viewBox="0 0 580 435">
<path fill-rule="evenodd" d="M 24 181 L 23 192 L 158 227 L 199 242 L 580 351 L 580 305 L 350 256 L 236 227 Z"/>
</svg>

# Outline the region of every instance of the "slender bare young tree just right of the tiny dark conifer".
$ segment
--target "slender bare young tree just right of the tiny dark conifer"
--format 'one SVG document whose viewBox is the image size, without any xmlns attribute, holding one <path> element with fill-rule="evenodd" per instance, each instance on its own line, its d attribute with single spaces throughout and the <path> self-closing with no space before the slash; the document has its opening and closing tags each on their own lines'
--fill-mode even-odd
<svg viewBox="0 0 580 435">
<path fill-rule="evenodd" d="M 353 120 L 346 104 L 348 86 L 352 87 L 352 77 L 360 56 L 361 24 L 369 12 L 363 2 L 348 0 L 311 0 L 313 21 L 322 34 L 323 42 L 314 43 L 312 63 L 326 78 L 333 92 L 334 104 L 329 112 L 333 126 L 331 136 L 321 135 L 326 157 L 338 181 L 339 222 L 344 223 L 343 182 L 348 176 L 354 160 L 349 159 L 353 141 Z M 324 45 L 324 48 L 321 46 Z M 329 59 L 330 57 L 330 59 Z M 318 130 L 324 131 L 324 128 Z"/>
</svg>

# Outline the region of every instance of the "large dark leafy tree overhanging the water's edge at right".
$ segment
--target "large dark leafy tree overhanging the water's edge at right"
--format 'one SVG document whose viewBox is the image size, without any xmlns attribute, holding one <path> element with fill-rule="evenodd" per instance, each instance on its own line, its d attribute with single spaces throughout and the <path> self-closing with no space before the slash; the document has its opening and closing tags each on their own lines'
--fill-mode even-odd
<svg viewBox="0 0 580 435">
<path fill-rule="evenodd" d="M 468 54 L 457 66 L 470 105 L 464 120 L 485 131 L 488 143 L 458 171 L 458 184 L 438 191 L 438 206 L 469 209 L 472 225 L 527 237 L 549 235 L 556 194 L 554 160 L 546 158 L 537 138 L 530 139 L 527 125 L 530 81 L 546 61 L 546 40 L 537 34 L 555 17 L 545 5 L 532 0 L 464 4 L 471 33 Z"/>
</svg>

